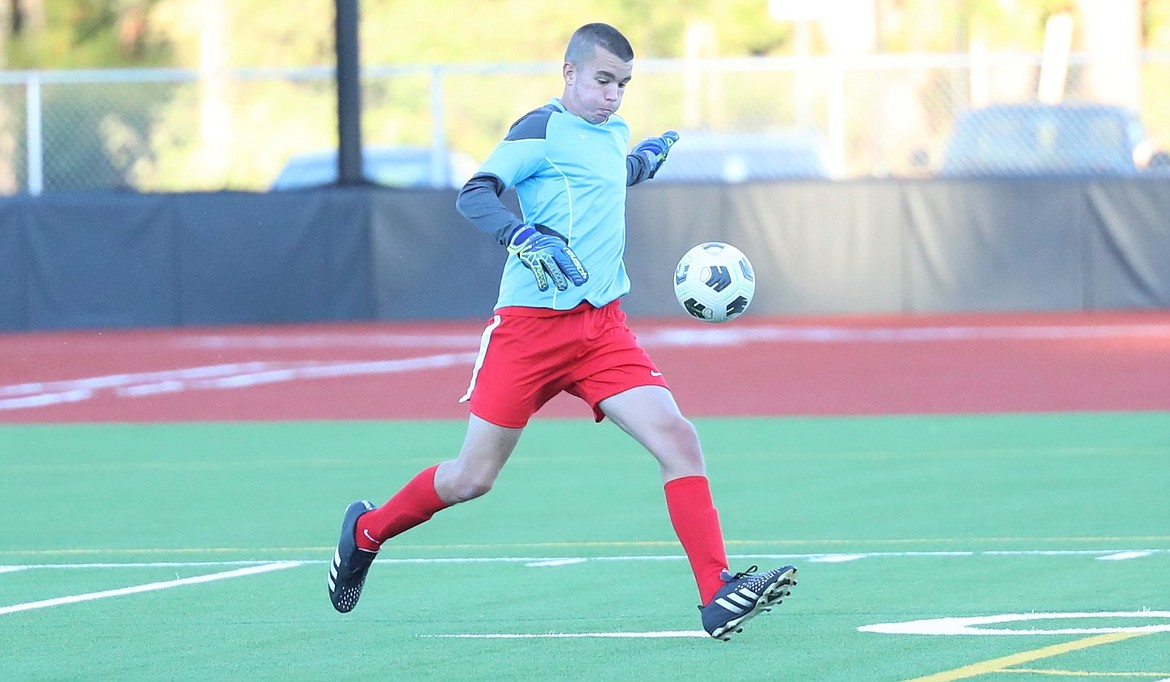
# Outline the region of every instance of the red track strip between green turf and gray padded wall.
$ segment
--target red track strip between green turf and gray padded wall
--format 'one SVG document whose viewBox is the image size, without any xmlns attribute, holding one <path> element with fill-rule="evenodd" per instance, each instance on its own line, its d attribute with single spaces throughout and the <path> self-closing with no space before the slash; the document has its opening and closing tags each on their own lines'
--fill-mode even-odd
<svg viewBox="0 0 1170 682">
<path fill-rule="evenodd" d="M 1170 311 L 631 326 L 691 416 L 1170 411 Z M 463 419 L 482 329 L 0 335 L 0 422 Z M 562 395 L 541 416 L 589 411 Z"/>
</svg>

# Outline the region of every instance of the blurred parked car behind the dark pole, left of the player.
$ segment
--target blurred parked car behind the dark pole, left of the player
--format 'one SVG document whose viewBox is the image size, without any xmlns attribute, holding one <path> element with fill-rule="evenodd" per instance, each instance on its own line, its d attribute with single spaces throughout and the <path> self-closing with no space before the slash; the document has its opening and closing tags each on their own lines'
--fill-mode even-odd
<svg viewBox="0 0 1170 682">
<path fill-rule="evenodd" d="M 365 178 L 388 187 L 461 187 L 477 165 L 467 154 L 435 154 L 422 146 L 367 146 L 362 151 Z M 337 150 L 297 154 L 284 164 L 273 190 L 295 190 L 337 182 Z"/>
</svg>

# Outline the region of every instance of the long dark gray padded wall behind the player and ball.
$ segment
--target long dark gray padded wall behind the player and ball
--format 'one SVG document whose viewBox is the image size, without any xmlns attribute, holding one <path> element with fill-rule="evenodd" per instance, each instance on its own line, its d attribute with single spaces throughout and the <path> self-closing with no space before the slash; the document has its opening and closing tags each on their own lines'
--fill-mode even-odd
<svg viewBox="0 0 1170 682">
<path fill-rule="evenodd" d="M 515 195 L 504 197 L 515 209 Z M 481 319 L 507 257 L 454 191 L 76 193 L 0 201 L 0 330 Z M 749 315 L 1170 306 L 1170 179 L 633 187 L 633 316 L 679 257 L 751 257 Z"/>
</svg>

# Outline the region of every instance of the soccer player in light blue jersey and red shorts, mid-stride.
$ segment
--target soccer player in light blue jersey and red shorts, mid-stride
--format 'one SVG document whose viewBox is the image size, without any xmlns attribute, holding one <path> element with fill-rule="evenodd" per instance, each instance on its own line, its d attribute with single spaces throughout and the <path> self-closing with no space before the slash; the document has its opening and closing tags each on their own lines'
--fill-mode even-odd
<svg viewBox="0 0 1170 682">
<path fill-rule="evenodd" d="M 488 492 L 529 418 L 562 391 L 658 460 L 708 634 L 729 639 L 796 585 L 794 566 L 728 571 L 698 436 L 626 326 L 626 187 L 653 178 L 679 139 L 667 131 L 627 152 L 629 128 L 617 111 L 633 58 L 612 26 L 577 29 L 562 67 L 564 94 L 512 124 L 461 190 L 460 213 L 515 256 L 462 398 L 470 402 L 467 435 L 457 457 L 419 473 L 381 507 L 358 501 L 345 510 L 329 572 L 337 611 L 355 607 L 384 542 Z M 509 188 L 523 218 L 500 200 Z"/>
</svg>

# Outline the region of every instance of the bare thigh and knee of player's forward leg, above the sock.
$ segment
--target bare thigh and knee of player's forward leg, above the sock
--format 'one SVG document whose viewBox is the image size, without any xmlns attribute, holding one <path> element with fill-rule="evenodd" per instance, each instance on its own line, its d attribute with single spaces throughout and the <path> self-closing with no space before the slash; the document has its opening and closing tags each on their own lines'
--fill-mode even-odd
<svg viewBox="0 0 1170 682">
<path fill-rule="evenodd" d="M 702 462 L 694 425 L 663 386 L 638 386 L 611 395 L 598 407 L 660 461 Z"/>
</svg>

